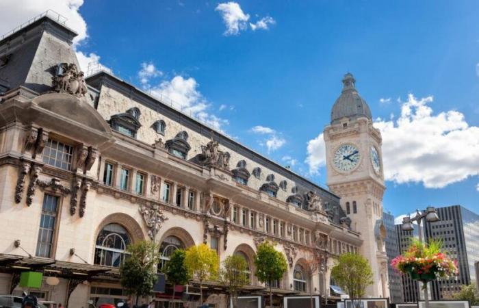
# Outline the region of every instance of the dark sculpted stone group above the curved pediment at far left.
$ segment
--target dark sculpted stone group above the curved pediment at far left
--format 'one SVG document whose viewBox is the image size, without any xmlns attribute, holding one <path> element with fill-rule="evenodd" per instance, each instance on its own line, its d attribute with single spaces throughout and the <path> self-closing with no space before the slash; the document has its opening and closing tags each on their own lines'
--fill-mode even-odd
<svg viewBox="0 0 479 308">
<path fill-rule="evenodd" d="M 51 81 L 55 92 L 68 93 L 75 97 L 85 97 L 88 92 L 83 72 L 73 63 L 58 64 Z"/>
</svg>

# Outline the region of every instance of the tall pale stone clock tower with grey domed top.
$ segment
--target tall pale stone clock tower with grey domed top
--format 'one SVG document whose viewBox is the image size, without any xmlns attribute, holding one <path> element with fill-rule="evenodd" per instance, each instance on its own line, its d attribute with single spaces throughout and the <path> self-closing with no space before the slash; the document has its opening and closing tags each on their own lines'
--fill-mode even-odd
<svg viewBox="0 0 479 308">
<path fill-rule="evenodd" d="M 341 197 L 351 229 L 361 233 L 363 244 L 359 251 L 370 261 L 374 275 L 365 295 L 389 297 L 382 139 L 355 81 L 350 73 L 344 75 L 343 90 L 331 111 L 331 125 L 324 129 L 327 184 Z"/>
</svg>

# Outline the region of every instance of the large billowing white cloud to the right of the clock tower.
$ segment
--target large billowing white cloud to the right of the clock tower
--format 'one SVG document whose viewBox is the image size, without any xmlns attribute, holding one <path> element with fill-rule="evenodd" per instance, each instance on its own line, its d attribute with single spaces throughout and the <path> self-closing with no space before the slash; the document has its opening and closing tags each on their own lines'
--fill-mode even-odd
<svg viewBox="0 0 479 308">
<path fill-rule="evenodd" d="M 461 112 L 433 114 L 432 97 L 409 94 L 397 120 L 376 120 L 383 136 L 385 179 L 443 188 L 479 175 L 479 127 Z"/>
</svg>

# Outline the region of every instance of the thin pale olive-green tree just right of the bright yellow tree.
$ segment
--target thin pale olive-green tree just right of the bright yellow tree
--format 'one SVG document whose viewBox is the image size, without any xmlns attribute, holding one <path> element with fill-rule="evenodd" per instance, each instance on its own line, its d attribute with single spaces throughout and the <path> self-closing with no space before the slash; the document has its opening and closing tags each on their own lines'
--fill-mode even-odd
<svg viewBox="0 0 479 308">
<path fill-rule="evenodd" d="M 233 308 L 236 306 L 236 300 L 239 290 L 249 282 L 246 270 L 248 264 L 244 257 L 239 255 L 230 255 L 223 261 L 223 266 L 220 269 L 220 283 L 226 287 L 228 291 L 228 307 L 230 298 L 233 300 Z"/>
</svg>

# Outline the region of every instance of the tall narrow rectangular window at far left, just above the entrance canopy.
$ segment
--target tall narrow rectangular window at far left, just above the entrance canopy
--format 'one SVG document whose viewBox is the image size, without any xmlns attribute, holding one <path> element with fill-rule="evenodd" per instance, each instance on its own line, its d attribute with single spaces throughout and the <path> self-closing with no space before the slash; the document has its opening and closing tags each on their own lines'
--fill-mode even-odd
<svg viewBox="0 0 479 308">
<path fill-rule="evenodd" d="M 37 257 L 51 257 L 57 224 L 58 197 L 45 194 L 40 218 L 40 230 L 36 244 Z"/>
</svg>

